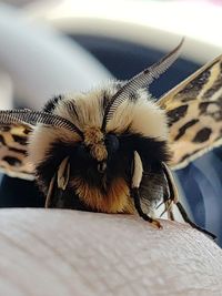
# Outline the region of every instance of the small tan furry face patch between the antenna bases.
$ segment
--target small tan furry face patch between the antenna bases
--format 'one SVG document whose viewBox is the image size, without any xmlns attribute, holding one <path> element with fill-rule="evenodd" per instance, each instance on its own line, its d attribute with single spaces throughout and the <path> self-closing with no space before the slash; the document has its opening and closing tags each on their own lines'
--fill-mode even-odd
<svg viewBox="0 0 222 296">
<path fill-rule="evenodd" d="M 104 143 L 104 134 L 99 127 L 89 126 L 84 129 L 84 144 L 90 149 L 90 153 L 98 162 L 108 157 L 108 151 Z"/>
</svg>

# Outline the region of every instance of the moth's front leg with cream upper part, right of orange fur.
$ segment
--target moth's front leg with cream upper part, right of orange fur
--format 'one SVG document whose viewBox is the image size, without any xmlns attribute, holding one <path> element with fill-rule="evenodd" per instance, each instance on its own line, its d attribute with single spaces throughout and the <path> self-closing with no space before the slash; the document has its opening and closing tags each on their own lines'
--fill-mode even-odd
<svg viewBox="0 0 222 296">
<path fill-rule="evenodd" d="M 131 184 L 131 195 L 134 201 L 135 210 L 138 211 L 138 214 L 144 220 L 150 222 L 152 225 L 157 226 L 158 228 L 162 228 L 160 222 L 158 220 L 154 220 L 150 217 L 148 214 L 145 214 L 142 211 L 141 203 L 140 203 L 140 183 L 142 180 L 143 174 L 143 167 L 142 167 L 142 161 L 140 159 L 140 155 L 137 151 L 134 151 L 134 163 L 133 163 L 133 174 L 132 174 L 132 184 Z"/>
</svg>

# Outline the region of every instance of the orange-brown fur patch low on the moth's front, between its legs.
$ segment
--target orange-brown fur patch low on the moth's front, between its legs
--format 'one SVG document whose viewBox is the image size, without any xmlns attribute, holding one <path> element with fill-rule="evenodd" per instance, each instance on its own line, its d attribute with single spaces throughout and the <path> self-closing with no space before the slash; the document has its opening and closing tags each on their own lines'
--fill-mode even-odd
<svg viewBox="0 0 222 296">
<path fill-rule="evenodd" d="M 122 178 L 113 181 L 107 194 L 102 194 L 98 187 L 89 186 L 80 177 L 75 177 L 71 184 L 80 200 L 94 211 L 102 213 L 134 213 L 129 186 Z"/>
</svg>

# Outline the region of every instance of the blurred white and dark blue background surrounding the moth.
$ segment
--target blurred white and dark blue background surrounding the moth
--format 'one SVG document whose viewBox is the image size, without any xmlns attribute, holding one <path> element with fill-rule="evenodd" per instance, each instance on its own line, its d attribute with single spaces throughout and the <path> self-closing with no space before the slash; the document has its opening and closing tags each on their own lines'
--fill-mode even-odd
<svg viewBox="0 0 222 296">
<path fill-rule="evenodd" d="M 125 80 L 185 37 L 151 93 L 160 98 L 222 53 L 222 1 L 9 0 L 0 2 L 0 109 L 40 109 L 64 92 Z M 176 171 L 195 222 L 222 246 L 222 150 Z M 0 206 L 43 206 L 31 182 L 1 175 Z"/>
</svg>

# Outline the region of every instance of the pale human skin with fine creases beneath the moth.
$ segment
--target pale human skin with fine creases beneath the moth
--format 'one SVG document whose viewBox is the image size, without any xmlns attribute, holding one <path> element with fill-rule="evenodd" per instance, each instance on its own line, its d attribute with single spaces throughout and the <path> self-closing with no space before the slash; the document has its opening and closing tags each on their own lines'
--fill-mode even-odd
<svg viewBox="0 0 222 296">
<path fill-rule="evenodd" d="M 0 295 L 222 295 L 222 251 L 189 225 L 132 215 L 0 211 Z"/>
</svg>

